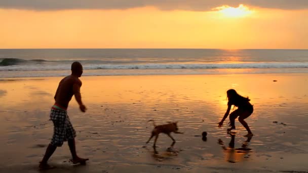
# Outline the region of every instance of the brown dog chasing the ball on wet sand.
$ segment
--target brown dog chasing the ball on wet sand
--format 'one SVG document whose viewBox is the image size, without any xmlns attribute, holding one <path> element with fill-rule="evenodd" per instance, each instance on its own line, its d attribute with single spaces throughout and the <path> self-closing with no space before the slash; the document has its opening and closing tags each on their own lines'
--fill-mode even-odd
<svg viewBox="0 0 308 173">
<path fill-rule="evenodd" d="M 154 129 L 152 131 L 151 137 L 147 140 L 146 144 L 149 143 L 150 140 L 155 136 L 155 141 L 154 141 L 153 147 L 156 147 L 156 141 L 157 141 L 160 133 L 164 133 L 164 134 L 168 135 L 172 139 L 173 142 L 175 142 L 175 140 L 170 135 L 171 132 L 173 132 L 175 134 L 183 134 L 182 132 L 178 132 L 177 122 L 170 122 L 168 124 L 156 125 L 154 120 L 152 120 L 152 119 L 148 120 L 148 122 L 150 122 L 150 121 L 153 122 Z"/>
</svg>

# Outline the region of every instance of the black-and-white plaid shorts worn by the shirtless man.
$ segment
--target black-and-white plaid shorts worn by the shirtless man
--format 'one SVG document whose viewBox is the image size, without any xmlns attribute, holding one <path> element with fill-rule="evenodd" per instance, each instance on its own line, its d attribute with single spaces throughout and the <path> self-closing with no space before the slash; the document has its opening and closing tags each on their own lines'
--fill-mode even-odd
<svg viewBox="0 0 308 173">
<path fill-rule="evenodd" d="M 54 134 L 51 139 L 51 145 L 61 147 L 64 141 L 76 137 L 76 131 L 71 125 L 65 110 L 51 109 L 50 120 L 54 123 Z"/>
</svg>

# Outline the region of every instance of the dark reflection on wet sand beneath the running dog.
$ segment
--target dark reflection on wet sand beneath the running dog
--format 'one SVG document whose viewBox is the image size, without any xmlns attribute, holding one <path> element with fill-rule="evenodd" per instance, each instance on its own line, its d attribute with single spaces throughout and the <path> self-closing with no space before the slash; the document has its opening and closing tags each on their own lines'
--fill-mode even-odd
<svg viewBox="0 0 308 173">
<path fill-rule="evenodd" d="M 151 156 L 157 161 L 169 160 L 176 157 L 180 152 L 180 150 L 174 148 L 174 144 L 175 142 L 172 142 L 170 147 L 168 147 L 165 151 L 159 152 L 157 149 L 158 147 L 151 147 L 153 150 L 146 148 L 146 150 L 148 150 L 151 153 Z"/>
</svg>

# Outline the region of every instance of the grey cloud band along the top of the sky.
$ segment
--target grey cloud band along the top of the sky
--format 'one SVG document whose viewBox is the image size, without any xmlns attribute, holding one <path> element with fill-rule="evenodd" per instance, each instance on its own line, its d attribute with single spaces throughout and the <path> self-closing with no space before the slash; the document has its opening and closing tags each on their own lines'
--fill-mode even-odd
<svg viewBox="0 0 308 173">
<path fill-rule="evenodd" d="M 26 10 L 70 10 L 70 9 L 130 9 L 145 6 L 161 10 L 210 11 L 228 5 L 272 9 L 308 9 L 308 0 L 0 0 L 0 8 Z"/>
</svg>

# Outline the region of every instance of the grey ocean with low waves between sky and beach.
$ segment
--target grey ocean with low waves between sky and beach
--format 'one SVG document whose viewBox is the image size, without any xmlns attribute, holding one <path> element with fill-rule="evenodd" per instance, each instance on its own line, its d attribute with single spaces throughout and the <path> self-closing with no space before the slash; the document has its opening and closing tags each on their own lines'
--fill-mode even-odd
<svg viewBox="0 0 308 173">
<path fill-rule="evenodd" d="M 308 50 L 0 49 L 0 78 L 65 76 L 74 61 L 85 76 L 308 72 Z"/>
</svg>

